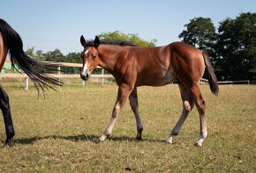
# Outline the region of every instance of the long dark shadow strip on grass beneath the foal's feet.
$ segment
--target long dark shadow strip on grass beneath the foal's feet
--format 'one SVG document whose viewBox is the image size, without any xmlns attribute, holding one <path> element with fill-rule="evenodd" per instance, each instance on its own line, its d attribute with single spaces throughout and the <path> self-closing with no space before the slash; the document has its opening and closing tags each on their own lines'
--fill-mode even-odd
<svg viewBox="0 0 256 173">
<path fill-rule="evenodd" d="M 62 135 L 50 135 L 50 136 L 44 136 L 44 137 L 31 137 L 31 138 L 20 138 L 14 140 L 14 143 L 16 144 L 24 144 L 29 145 L 33 144 L 35 141 L 41 141 L 41 140 L 67 140 L 67 141 L 92 141 L 94 143 L 101 143 L 99 141 L 99 136 L 96 136 L 94 134 L 92 135 L 85 135 L 85 134 L 78 134 L 78 135 L 72 135 L 72 136 L 62 136 Z M 128 136 L 109 136 L 109 138 L 106 141 L 138 141 L 136 138 L 128 137 Z M 165 142 L 163 140 L 154 140 L 154 139 L 143 139 L 143 141 L 147 142 Z"/>
</svg>

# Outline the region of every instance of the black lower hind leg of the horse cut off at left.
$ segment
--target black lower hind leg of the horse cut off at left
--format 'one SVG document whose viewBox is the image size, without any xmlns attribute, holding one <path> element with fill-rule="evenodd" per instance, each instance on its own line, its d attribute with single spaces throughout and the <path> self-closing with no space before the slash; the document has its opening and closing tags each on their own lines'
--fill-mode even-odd
<svg viewBox="0 0 256 173">
<path fill-rule="evenodd" d="M 13 136 L 15 135 L 12 120 L 11 120 L 11 109 L 9 105 L 9 97 L 4 91 L 3 87 L 0 85 L 0 108 L 4 115 L 4 125 L 6 132 L 6 141 L 4 146 L 11 147 L 14 144 Z"/>
</svg>

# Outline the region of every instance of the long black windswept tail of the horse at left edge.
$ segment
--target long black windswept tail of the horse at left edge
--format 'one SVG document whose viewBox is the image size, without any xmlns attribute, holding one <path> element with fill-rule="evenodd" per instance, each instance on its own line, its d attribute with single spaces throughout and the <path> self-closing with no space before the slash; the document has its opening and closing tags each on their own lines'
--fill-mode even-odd
<svg viewBox="0 0 256 173">
<path fill-rule="evenodd" d="M 27 76 L 34 82 L 36 89 L 42 90 L 44 95 L 45 89 L 53 89 L 53 85 L 62 85 L 58 78 L 49 75 L 56 72 L 56 63 L 53 62 L 41 62 L 29 58 L 24 50 L 23 43 L 19 36 L 19 33 L 11 28 L 3 19 L 0 18 L 0 32 L 2 33 L 4 46 L 9 49 L 11 56 L 11 65 L 16 68 L 19 73 L 25 72 Z"/>
</svg>

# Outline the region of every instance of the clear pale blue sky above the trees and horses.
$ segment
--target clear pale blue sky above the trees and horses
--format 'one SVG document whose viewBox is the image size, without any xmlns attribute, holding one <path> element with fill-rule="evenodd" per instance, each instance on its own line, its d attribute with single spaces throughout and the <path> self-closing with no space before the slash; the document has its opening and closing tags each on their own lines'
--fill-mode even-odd
<svg viewBox="0 0 256 173">
<path fill-rule="evenodd" d="M 138 33 L 156 45 L 177 41 L 184 25 L 196 17 L 211 18 L 217 28 L 225 18 L 256 12 L 255 0 L 0 0 L 0 18 L 21 36 L 24 49 L 44 53 L 80 52 L 86 39 L 102 32 Z"/>
</svg>

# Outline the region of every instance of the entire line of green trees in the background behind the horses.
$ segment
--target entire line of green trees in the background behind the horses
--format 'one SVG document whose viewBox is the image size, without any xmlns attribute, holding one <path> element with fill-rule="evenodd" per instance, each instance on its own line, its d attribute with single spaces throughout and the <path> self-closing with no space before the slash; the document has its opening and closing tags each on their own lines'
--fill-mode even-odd
<svg viewBox="0 0 256 173">
<path fill-rule="evenodd" d="M 218 80 L 256 81 L 256 13 L 241 13 L 226 18 L 215 28 L 211 18 L 192 18 L 184 25 L 178 38 L 201 50 L 206 49 Z M 132 42 L 141 47 L 155 47 L 157 40 L 139 38 L 138 34 L 102 32 L 101 40 L 115 39 Z M 62 54 L 59 49 L 42 54 L 29 48 L 26 54 L 40 61 L 81 63 L 80 53 Z M 79 68 L 64 68 L 65 73 L 79 73 Z"/>
</svg>

